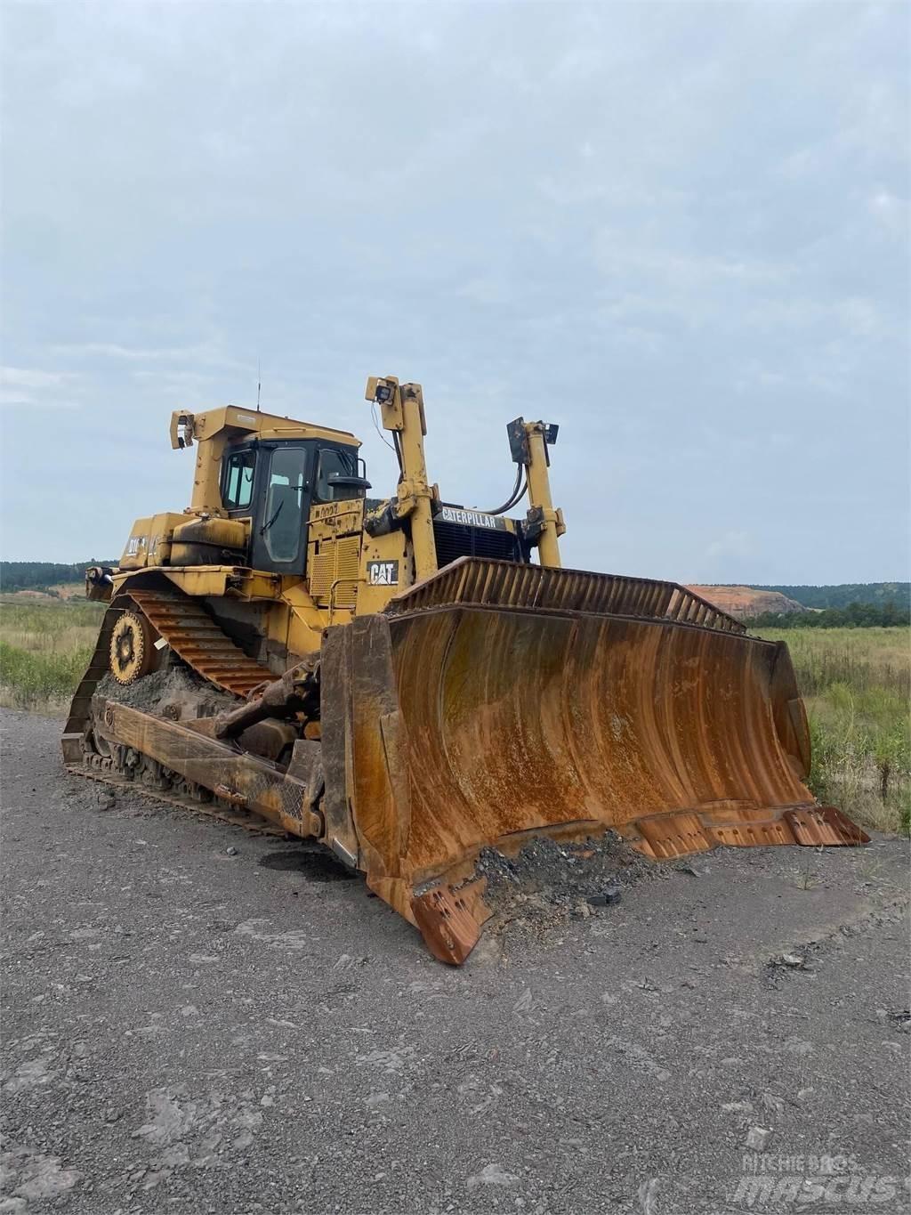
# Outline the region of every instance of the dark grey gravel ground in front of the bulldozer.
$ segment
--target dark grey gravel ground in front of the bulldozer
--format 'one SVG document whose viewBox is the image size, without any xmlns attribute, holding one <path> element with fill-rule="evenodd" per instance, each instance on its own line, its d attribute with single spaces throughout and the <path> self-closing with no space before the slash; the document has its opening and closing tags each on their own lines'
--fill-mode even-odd
<svg viewBox="0 0 911 1215">
<path fill-rule="evenodd" d="M 321 854 L 102 809 L 1 719 L 0 1211 L 906 1209 L 900 841 L 532 895 L 454 971 Z"/>
</svg>

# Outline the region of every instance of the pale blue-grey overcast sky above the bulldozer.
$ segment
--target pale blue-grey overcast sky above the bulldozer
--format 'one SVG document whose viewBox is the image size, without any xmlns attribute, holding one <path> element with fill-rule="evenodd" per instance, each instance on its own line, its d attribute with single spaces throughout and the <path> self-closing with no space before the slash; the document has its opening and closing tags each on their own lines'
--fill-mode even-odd
<svg viewBox="0 0 911 1215">
<path fill-rule="evenodd" d="M 907 577 L 909 6 L 2 5 L 4 536 L 182 509 L 171 409 L 424 385 L 491 508 L 560 423 L 566 565 Z"/>
</svg>

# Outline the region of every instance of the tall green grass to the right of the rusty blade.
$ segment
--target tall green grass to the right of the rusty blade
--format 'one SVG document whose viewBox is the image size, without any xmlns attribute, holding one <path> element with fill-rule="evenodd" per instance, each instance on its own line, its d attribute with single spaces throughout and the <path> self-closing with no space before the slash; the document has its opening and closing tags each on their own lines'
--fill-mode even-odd
<svg viewBox="0 0 911 1215">
<path fill-rule="evenodd" d="M 911 831 L 911 629 L 760 629 L 791 650 L 813 739 L 810 789 L 853 818 Z"/>
</svg>

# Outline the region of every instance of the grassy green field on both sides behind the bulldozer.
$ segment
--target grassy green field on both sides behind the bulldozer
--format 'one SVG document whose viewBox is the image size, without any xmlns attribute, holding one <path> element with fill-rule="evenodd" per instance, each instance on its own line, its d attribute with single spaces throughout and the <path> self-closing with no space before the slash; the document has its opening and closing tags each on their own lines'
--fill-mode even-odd
<svg viewBox="0 0 911 1215">
<path fill-rule="evenodd" d="M 0 600 L 0 705 L 63 713 L 103 605 Z M 870 826 L 909 830 L 911 629 L 764 629 L 787 642 L 813 733 L 814 793 Z"/>
</svg>

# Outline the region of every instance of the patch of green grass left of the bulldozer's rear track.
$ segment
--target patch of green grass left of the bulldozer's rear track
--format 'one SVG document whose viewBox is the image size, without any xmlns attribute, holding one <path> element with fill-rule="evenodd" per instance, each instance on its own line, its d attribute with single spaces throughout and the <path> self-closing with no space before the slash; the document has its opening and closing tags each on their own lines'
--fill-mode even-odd
<svg viewBox="0 0 911 1215">
<path fill-rule="evenodd" d="M 0 603 L 0 703 L 66 711 L 85 674 L 104 615 L 89 601 Z"/>
</svg>

